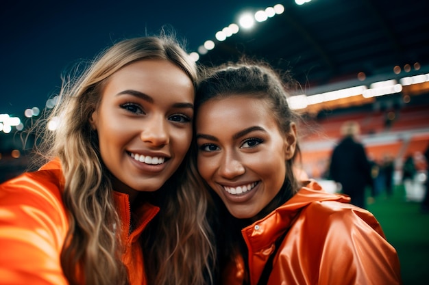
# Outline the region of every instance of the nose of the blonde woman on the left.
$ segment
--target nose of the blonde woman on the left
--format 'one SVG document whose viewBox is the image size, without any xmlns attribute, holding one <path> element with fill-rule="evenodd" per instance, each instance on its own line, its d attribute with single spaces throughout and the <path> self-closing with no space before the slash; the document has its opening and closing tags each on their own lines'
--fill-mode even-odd
<svg viewBox="0 0 429 285">
<path fill-rule="evenodd" d="M 168 122 L 164 116 L 154 116 L 147 120 L 140 133 L 140 139 L 153 146 L 165 146 L 169 144 Z"/>
</svg>

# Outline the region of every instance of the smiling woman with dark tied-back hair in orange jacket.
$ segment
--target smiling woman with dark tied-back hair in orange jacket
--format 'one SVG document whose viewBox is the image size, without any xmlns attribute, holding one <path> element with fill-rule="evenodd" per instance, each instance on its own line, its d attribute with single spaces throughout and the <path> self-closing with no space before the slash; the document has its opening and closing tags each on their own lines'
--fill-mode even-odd
<svg viewBox="0 0 429 285">
<path fill-rule="evenodd" d="M 239 62 L 209 69 L 197 88 L 193 163 L 216 206 L 221 284 L 400 284 L 376 218 L 295 177 L 287 83 L 267 64 Z"/>
</svg>

